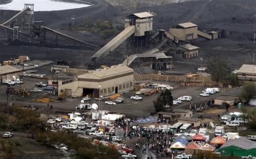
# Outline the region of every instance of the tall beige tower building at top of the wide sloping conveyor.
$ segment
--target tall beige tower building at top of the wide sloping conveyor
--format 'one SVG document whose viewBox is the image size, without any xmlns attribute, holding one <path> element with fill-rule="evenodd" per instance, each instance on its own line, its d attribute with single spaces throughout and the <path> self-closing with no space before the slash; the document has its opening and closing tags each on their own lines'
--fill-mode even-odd
<svg viewBox="0 0 256 159">
<path fill-rule="evenodd" d="M 149 12 L 134 13 L 125 18 L 125 28 L 134 25 L 135 37 L 142 37 L 145 32 L 153 30 L 153 15 Z"/>
</svg>

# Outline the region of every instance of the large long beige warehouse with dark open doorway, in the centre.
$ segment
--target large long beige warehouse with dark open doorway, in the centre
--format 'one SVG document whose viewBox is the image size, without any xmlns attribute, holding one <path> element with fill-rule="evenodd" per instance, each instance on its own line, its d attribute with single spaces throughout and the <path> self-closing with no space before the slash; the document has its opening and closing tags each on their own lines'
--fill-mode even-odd
<svg viewBox="0 0 256 159">
<path fill-rule="evenodd" d="M 67 96 L 99 98 L 133 89 L 133 69 L 119 64 L 79 75 L 77 81 L 59 85 L 58 92 Z"/>
</svg>

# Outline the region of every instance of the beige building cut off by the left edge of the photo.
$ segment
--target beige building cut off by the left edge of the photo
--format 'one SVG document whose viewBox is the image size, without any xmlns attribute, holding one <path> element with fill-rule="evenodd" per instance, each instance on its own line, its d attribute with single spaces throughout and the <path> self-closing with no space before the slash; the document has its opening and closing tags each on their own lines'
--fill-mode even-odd
<svg viewBox="0 0 256 159">
<path fill-rule="evenodd" d="M 0 66 L 0 81 L 1 83 L 7 83 L 13 80 L 13 76 L 19 77 L 21 75 L 21 70 L 12 67 L 10 65 Z"/>
</svg>

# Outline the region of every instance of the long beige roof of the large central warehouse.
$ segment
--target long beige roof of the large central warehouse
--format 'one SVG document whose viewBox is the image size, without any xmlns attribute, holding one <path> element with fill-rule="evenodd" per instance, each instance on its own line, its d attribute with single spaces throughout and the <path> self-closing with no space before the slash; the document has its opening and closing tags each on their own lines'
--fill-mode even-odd
<svg viewBox="0 0 256 159">
<path fill-rule="evenodd" d="M 102 79 L 106 77 L 122 75 L 122 74 L 132 73 L 132 72 L 133 72 L 132 68 L 124 66 L 124 64 L 119 64 L 117 66 L 111 66 L 104 69 L 96 69 L 96 70 L 89 71 L 86 74 L 79 75 L 78 78 Z"/>
</svg>

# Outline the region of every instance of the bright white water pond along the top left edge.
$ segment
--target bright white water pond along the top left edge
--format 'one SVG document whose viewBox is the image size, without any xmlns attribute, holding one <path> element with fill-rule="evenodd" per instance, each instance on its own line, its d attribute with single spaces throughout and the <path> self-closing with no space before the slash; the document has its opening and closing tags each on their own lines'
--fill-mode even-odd
<svg viewBox="0 0 256 159">
<path fill-rule="evenodd" d="M 13 0 L 7 4 L 0 4 L 0 10 L 23 10 L 24 4 L 34 4 L 34 11 L 56 11 L 76 9 L 90 6 L 84 3 L 60 2 L 56 0 Z"/>
</svg>

